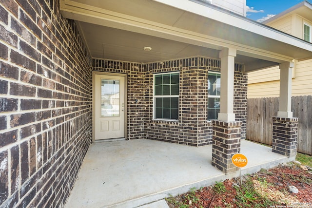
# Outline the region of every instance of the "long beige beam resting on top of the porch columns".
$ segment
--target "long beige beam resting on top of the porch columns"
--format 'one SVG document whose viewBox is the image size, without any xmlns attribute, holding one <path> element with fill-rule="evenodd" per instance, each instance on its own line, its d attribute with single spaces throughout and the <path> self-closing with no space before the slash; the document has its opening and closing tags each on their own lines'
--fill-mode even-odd
<svg viewBox="0 0 312 208">
<path fill-rule="evenodd" d="M 276 54 L 259 48 L 253 48 L 248 45 L 242 45 L 221 38 L 198 34 L 189 30 L 152 22 L 146 19 L 139 19 L 117 12 L 96 8 L 72 0 L 60 0 L 60 3 L 62 15 L 69 19 L 75 19 L 132 32 L 139 32 L 145 35 L 200 45 L 207 48 L 214 48 L 216 50 L 232 47 L 239 50 L 239 53 L 242 55 L 249 54 L 249 56 L 253 56 L 252 54 L 254 54 L 256 55 L 255 57 L 266 57 L 265 59 L 274 62 L 280 62 L 280 60 L 292 60 L 292 57 Z M 207 7 L 203 7 L 201 9 L 204 8 Z M 216 12 L 216 10 L 212 10 L 212 12 Z"/>
</svg>

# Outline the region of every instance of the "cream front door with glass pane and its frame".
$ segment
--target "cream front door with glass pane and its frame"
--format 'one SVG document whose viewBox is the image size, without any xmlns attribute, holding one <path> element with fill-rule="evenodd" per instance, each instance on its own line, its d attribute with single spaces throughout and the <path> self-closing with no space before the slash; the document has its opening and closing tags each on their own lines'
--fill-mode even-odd
<svg viewBox="0 0 312 208">
<path fill-rule="evenodd" d="M 125 76 L 93 77 L 94 140 L 125 138 Z"/>
</svg>

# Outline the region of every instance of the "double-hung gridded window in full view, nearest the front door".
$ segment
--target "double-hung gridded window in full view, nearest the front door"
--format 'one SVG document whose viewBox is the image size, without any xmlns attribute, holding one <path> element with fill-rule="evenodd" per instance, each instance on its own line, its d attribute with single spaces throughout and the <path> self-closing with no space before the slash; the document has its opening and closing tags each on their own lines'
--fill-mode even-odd
<svg viewBox="0 0 312 208">
<path fill-rule="evenodd" d="M 179 72 L 154 75 L 154 118 L 178 120 Z"/>
</svg>

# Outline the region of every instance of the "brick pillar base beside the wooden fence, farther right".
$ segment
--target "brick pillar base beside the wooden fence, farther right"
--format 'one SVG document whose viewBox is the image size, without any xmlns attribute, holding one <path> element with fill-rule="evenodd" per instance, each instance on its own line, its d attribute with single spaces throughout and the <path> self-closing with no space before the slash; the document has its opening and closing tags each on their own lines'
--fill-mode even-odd
<svg viewBox="0 0 312 208">
<path fill-rule="evenodd" d="M 273 117 L 272 151 L 288 157 L 297 154 L 298 118 Z"/>
</svg>

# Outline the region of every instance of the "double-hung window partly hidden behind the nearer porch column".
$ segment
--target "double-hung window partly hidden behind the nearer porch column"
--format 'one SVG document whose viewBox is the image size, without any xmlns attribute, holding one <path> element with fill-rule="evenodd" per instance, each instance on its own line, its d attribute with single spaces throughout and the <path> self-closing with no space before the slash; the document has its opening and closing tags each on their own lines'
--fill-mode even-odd
<svg viewBox="0 0 312 208">
<path fill-rule="evenodd" d="M 208 73 L 208 120 L 218 118 L 220 112 L 220 73 Z"/>
</svg>

